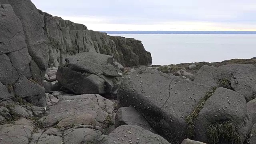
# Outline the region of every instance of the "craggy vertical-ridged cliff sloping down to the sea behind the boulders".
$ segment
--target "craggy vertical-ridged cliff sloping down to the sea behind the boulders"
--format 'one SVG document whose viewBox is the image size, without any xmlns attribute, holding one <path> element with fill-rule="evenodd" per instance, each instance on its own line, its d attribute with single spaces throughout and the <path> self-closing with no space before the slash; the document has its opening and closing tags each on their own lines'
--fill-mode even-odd
<svg viewBox="0 0 256 144">
<path fill-rule="evenodd" d="M 82 52 L 99 52 L 114 57 L 123 66 L 150 65 L 150 52 L 144 49 L 139 40 L 108 36 L 103 32 L 88 30 L 60 17 L 53 17 L 38 10 L 44 19 L 44 31 L 49 44 L 49 67 L 65 63 L 68 56 Z"/>
</svg>

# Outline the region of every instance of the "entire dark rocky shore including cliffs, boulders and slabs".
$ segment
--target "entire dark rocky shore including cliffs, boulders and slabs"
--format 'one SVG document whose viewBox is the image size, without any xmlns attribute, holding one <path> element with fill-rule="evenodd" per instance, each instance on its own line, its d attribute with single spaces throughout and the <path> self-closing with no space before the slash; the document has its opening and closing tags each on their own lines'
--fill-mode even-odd
<svg viewBox="0 0 256 144">
<path fill-rule="evenodd" d="M 256 58 L 151 63 L 139 40 L 0 0 L 0 144 L 256 143 Z"/>
</svg>

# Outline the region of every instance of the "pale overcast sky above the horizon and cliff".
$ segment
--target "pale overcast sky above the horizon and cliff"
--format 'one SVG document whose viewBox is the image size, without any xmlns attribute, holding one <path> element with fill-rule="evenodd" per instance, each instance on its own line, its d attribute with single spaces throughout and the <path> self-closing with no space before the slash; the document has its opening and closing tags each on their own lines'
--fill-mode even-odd
<svg viewBox="0 0 256 144">
<path fill-rule="evenodd" d="M 91 30 L 256 31 L 256 0 L 32 0 Z"/>
</svg>

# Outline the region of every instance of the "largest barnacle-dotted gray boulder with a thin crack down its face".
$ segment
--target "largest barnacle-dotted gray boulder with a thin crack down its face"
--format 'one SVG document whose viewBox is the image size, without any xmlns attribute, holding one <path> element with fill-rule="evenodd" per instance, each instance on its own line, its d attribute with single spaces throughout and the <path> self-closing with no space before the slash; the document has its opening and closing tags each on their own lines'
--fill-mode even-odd
<svg viewBox="0 0 256 144">
<path fill-rule="evenodd" d="M 140 67 L 118 87 L 118 104 L 120 107 L 135 107 L 158 134 L 178 144 L 187 138 L 186 116 L 210 89 Z"/>
</svg>

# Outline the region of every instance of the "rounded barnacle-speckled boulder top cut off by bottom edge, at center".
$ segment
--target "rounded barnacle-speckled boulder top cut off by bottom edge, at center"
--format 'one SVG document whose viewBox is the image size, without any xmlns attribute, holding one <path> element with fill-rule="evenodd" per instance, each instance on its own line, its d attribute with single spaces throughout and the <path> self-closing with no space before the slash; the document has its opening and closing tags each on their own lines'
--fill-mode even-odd
<svg viewBox="0 0 256 144">
<path fill-rule="evenodd" d="M 137 125 L 119 126 L 102 138 L 101 144 L 170 144 L 161 136 Z"/>
</svg>

